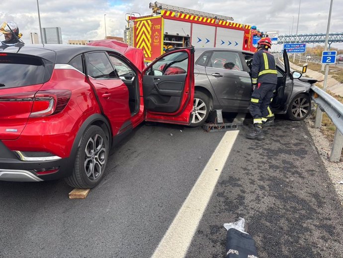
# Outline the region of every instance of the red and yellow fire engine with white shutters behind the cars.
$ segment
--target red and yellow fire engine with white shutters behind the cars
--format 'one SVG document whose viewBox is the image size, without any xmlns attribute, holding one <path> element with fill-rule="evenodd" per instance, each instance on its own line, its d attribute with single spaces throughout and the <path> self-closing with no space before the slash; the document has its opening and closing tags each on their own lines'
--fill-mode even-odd
<svg viewBox="0 0 343 258">
<path fill-rule="evenodd" d="M 149 7 L 152 15 L 127 13 L 124 32 L 128 45 L 143 49 L 146 62 L 168 48 L 190 45 L 255 51 L 254 43 L 261 36 L 255 26 L 234 22 L 233 17 L 159 2 Z"/>
</svg>

